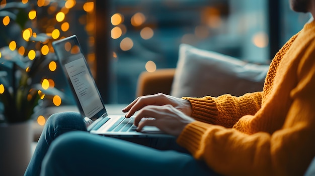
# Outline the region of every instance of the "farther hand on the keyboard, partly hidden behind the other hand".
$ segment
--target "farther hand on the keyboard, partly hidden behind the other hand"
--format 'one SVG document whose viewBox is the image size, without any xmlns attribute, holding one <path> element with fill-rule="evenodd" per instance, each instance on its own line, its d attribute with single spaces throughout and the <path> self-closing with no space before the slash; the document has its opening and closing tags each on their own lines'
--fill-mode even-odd
<svg viewBox="0 0 315 176">
<path fill-rule="evenodd" d="M 188 100 L 176 98 L 162 93 L 138 97 L 133 102 L 131 102 L 127 107 L 125 107 L 122 111 L 127 112 L 125 116 L 128 118 L 131 117 L 136 111 L 142 109 L 147 105 L 162 106 L 167 104 L 172 105 L 174 108 L 178 109 L 184 114 L 191 116 L 192 112 L 191 104 Z"/>
</svg>

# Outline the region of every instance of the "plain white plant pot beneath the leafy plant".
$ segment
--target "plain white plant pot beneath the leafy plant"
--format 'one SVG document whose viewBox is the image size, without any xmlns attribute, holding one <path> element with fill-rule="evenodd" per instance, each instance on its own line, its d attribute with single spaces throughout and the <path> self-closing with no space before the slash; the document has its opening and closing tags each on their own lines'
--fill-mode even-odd
<svg viewBox="0 0 315 176">
<path fill-rule="evenodd" d="M 32 121 L 0 124 L 0 174 L 23 175 L 31 159 Z"/>
</svg>

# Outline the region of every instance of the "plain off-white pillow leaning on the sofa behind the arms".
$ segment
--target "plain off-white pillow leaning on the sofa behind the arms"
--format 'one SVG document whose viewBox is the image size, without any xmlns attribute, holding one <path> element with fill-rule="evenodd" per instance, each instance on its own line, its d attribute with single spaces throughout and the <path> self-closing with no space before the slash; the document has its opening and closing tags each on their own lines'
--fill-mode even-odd
<svg viewBox="0 0 315 176">
<path fill-rule="evenodd" d="M 181 44 L 171 95 L 203 97 L 262 91 L 268 65 L 250 64 Z"/>
</svg>

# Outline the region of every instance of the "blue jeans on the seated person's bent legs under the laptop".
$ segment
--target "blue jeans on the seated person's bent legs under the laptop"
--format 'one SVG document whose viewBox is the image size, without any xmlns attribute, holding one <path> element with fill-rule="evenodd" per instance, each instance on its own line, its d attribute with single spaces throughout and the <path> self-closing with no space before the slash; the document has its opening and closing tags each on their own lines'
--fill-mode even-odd
<svg viewBox="0 0 315 176">
<path fill-rule="evenodd" d="M 25 175 L 217 175 L 180 147 L 148 146 L 90 134 L 80 114 L 58 113 L 48 118 Z"/>
</svg>

